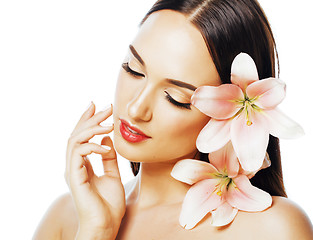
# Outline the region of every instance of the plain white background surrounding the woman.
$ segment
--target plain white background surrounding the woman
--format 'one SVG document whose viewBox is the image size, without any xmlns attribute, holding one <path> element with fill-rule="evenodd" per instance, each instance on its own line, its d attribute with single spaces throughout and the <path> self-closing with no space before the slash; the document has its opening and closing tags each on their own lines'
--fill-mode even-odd
<svg viewBox="0 0 313 240">
<path fill-rule="evenodd" d="M 113 102 L 128 44 L 153 3 L 0 2 L 3 239 L 30 239 L 51 202 L 67 192 L 63 177 L 67 139 L 91 100 L 98 110 Z M 306 131 L 300 139 L 281 141 L 287 192 L 312 220 L 310 1 L 260 3 L 276 37 L 281 78 L 287 82 L 281 109 Z M 129 163 L 120 159 L 119 164 L 126 182 L 132 176 Z"/>
</svg>

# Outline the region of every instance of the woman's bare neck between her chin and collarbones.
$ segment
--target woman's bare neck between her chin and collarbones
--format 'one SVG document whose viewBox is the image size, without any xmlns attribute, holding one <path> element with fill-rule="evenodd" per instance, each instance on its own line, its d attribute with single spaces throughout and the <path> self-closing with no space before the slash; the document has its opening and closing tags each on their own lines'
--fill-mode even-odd
<svg viewBox="0 0 313 240">
<path fill-rule="evenodd" d="M 190 186 L 171 176 L 175 163 L 141 163 L 128 203 L 138 208 L 182 203 Z"/>
</svg>

